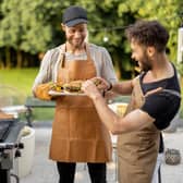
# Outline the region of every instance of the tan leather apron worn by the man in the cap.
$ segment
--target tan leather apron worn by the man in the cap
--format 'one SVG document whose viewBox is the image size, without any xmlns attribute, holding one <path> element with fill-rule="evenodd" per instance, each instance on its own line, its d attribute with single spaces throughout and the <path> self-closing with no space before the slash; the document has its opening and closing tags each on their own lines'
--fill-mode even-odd
<svg viewBox="0 0 183 183">
<path fill-rule="evenodd" d="M 96 76 L 86 46 L 87 60 L 61 60 L 58 81 L 69 82 Z M 100 122 L 93 101 L 86 96 L 57 99 L 50 158 L 63 162 L 107 162 L 111 160 L 111 138 Z"/>
</svg>

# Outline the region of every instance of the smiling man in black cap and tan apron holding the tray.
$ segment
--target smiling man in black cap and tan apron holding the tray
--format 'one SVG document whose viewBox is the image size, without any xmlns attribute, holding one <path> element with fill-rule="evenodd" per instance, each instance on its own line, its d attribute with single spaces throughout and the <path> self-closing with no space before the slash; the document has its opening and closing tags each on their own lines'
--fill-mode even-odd
<svg viewBox="0 0 183 183">
<path fill-rule="evenodd" d="M 35 80 L 34 95 L 50 99 L 50 81 L 68 83 L 100 76 L 115 83 L 111 58 L 103 47 L 87 44 L 87 13 L 70 7 L 61 24 L 65 44 L 49 50 Z M 57 99 L 50 158 L 57 161 L 60 183 L 73 183 L 75 162 L 87 162 L 93 183 L 106 183 L 106 162 L 111 160 L 111 139 L 87 96 Z"/>
</svg>

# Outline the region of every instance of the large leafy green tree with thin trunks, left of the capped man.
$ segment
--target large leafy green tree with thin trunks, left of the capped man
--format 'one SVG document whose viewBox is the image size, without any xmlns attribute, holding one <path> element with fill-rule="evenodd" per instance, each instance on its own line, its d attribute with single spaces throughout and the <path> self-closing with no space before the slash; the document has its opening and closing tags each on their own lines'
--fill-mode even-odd
<svg viewBox="0 0 183 183">
<path fill-rule="evenodd" d="M 1 2 L 0 47 L 5 48 L 5 65 L 11 66 L 11 50 L 16 51 L 16 66 L 22 52 L 37 54 L 51 45 L 64 3 L 45 0 L 4 0 Z M 52 21 L 53 20 L 53 21 Z"/>
</svg>

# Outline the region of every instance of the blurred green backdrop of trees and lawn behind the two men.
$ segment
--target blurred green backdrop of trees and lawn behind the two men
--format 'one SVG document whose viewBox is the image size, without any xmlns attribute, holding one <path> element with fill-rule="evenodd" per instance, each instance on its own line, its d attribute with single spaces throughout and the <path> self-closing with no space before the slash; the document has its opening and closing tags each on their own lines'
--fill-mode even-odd
<svg viewBox="0 0 183 183">
<path fill-rule="evenodd" d="M 13 90 L 21 96 L 20 102 L 32 95 L 45 52 L 64 42 L 60 26 L 62 12 L 73 4 L 86 8 L 89 41 L 109 50 L 119 80 L 136 74 L 124 30 L 142 19 L 158 20 L 169 30 L 167 52 L 179 69 L 180 80 L 183 77 L 183 63 L 176 63 L 178 29 L 183 24 L 182 0 L 0 0 L 0 89 L 8 88 L 1 95 Z M 50 109 L 41 112 L 44 118 L 52 117 Z M 40 111 L 34 114 L 42 118 Z"/>
</svg>

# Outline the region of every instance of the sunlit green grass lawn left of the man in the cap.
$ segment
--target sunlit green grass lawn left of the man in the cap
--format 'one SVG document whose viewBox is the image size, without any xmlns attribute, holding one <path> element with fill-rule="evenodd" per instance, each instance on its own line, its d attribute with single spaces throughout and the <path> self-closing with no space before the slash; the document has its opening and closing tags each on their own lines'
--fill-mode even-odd
<svg viewBox="0 0 183 183">
<path fill-rule="evenodd" d="M 38 68 L 0 70 L 0 85 L 12 87 L 22 94 L 22 98 L 32 96 L 32 86 L 38 73 Z M 1 88 L 0 88 L 1 89 Z M 5 94 L 3 94 L 5 95 Z M 9 94 L 8 94 L 9 95 Z M 37 108 L 33 110 L 34 120 L 51 120 L 52 108 Z"/>
</svg>

